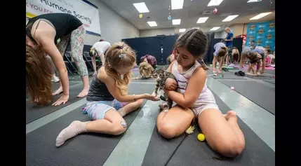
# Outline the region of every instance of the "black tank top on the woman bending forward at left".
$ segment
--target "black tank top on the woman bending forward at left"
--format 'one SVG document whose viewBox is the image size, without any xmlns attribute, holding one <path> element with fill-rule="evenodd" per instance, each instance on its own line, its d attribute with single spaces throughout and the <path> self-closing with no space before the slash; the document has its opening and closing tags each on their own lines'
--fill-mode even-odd
<svg viewBox="0 0 301 166">
<path fill-rule="evenodd" d="M 55 44 L 58 39 L 60 39 L 62 36 L 66 36 L 70 34 L 72 31 L 83 25 L 81 20 L 76 18 L 74 15 L 70 15 L 67 13 L 49 13 L 49 14 L 43 14 L 43 15 L 38 15 L 34 18 L 30 18 L 27 25 L 34 22 L 39 19 L 45 19 L 51 22 L 52 26 L 55 28 Z M 30 39 L 34 40 L 32 38 L 31 34 L 31 29 L 32 26 L 28 27 L 26 29 L 26 34 L 29 36 Z"/>
</svg>

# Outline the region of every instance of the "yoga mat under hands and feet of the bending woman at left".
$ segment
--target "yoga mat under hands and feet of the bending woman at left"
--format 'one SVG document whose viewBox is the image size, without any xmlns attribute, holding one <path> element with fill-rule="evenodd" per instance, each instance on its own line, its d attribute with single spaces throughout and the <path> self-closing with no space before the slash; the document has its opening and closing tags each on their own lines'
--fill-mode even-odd
<svg viewBox="0 0 301 166">
<path fill-rule="evenodd" d="M 58 83 L 53 84 L 53 90 L 56 90 L 58 87 L 59 87 Z M 62 107 L 72 104 L 78 101 L 79 99 L 82 99 L 76 97 L 77 95 L 79 95 L 79 92 L 81 92 L 81 90 L 83 90 L 82 85 L 74 85 L 73 87 L 70 87 L 68 102 L 66 104 L 61 104 L 60 106 L 53 106 L 51 104 L 53 104 L 53 102 L 59 99 L 61 95 L 55 95 L 55 97 L 53 97 L 53 102 L 47 106 L 38 106 L 36 104 L 33 104 L 31 101 L 27 101 L 26 102 L 26 124 L 31 123 L 32 121 L 39 119 L 43 116 L 46 116 L 49 113 L 53 113 L 58 109 L 62 109 Z"/>
</svg>

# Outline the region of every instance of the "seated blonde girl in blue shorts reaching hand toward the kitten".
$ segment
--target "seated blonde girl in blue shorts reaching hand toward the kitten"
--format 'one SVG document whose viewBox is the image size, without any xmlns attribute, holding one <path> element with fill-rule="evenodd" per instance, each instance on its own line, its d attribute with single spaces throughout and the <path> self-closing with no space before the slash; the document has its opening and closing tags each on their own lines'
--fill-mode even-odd
<svg viewBox="0 0 301 166">
<path fill-rule="evenodd" d="M 137 110 L 143 99 L 159 101 L 159 98 L 146 93 L 127 95 L 128 83 L 132 78 L 131 69 L 135 64 L 135 52 L 126 43 L 115 43 L 107 50 L 105 65 L 93 77 L 88 103 L 83 109 L 91 121 L 73 121 L 58 134 L 56 146 L 83 132 L 119 135 L 127 129 L 123 116 Z"/>
</svg>

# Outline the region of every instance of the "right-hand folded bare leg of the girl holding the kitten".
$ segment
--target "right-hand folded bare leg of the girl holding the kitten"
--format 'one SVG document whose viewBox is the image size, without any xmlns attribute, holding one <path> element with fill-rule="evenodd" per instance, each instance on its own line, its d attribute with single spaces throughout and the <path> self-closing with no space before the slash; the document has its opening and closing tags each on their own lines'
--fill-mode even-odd
<svg viewBox="0 0 301 166">
<path fill-rule="evenodd" d="M 210 147 L 218 153 L 236 157 L 243 151 L 245 138 L 234 111 L 222 115 L 216 109 L 206 109 L 199 115 L 199 126 Z"/>
</svg>

